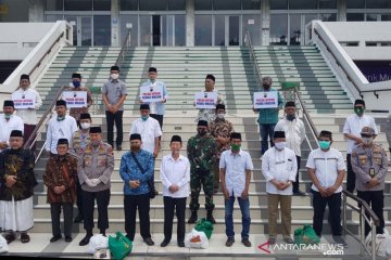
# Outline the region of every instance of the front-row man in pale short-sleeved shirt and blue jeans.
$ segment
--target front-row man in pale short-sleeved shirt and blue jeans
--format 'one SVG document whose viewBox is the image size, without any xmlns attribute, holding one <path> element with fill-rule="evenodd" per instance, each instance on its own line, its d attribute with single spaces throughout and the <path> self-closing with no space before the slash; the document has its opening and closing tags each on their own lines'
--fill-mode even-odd
<svg viewBox="0 0 391 260">
<path fill-rule="evenodd" d="M 230 150 L 223 152 L 219 160 L 222 190 L 225 198 L 227 247 L 232 246 L 235 243 L 232 220 L 235 198 L 238 199 L 242 213 L 241 242 L 245 247 L 251 247 L 251 242 L 249 240 L 251 224 L 249 187 L 254 166 L 250 154 L 240 148 L 241 141 L 241 134 L 232 132 L 230 134 Z"/>
</svg>

